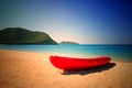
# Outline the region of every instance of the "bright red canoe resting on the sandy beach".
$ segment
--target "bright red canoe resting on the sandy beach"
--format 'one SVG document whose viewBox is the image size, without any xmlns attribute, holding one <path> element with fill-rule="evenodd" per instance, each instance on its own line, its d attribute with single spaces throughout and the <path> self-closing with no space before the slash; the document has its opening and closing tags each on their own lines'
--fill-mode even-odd
<svg viewBox="0 0 132 88">
<path fill-rule="evenodd" d="M 50 61 L 56 68 L 63 70 L 77 70 L 109 64 L 111 58 L 109 56 L 100 56 L 96 58 L 51 56 Z"/>
</svg>

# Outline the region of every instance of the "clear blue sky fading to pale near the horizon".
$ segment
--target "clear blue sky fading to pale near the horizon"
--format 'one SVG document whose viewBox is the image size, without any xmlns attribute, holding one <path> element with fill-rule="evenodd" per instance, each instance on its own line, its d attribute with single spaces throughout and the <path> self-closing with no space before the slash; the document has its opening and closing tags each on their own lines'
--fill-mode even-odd
<svg viewBox="0 0 132 88">
<path fill-rule="evenodd" d="M 0 0 L 0 29 L 24 28 L 56 42 L 132 44 L 131 0 Z"/>
</svg>

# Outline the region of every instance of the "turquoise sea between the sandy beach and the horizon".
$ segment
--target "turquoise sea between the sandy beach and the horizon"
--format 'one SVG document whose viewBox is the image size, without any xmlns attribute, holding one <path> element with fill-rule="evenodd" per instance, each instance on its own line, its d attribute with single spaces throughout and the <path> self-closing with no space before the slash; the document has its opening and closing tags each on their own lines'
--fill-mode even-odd
<svg viewBox="0 0 132 88">
<path fill-rule="evenodd" d="M 116 61 L 132 61 L 132 45 L 0 45 L 0 48 L 80 57 L 108 55 Z"/>
</svg>

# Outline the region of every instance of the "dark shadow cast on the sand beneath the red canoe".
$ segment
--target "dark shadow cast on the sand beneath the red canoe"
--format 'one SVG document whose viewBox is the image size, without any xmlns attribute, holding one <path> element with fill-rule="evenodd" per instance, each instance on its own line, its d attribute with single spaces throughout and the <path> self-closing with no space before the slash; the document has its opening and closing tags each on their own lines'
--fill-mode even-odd
<svg viewBox="0 0 132 88">
<path fill-rule="evenodd" d="M 64 70 L 61 73 L 62 75 L 87 75 L 87 74 L 92 74 L 92 73 L 101 73 L 103 70 L 109 70 L 110 68 L 113 68 L 116 66 L 116 63 L 109 63 L 107 65 L 102 65 L 99 67 L 94 67 L 94 68 L 87 68 L 87 69 L 80 69 L 80 70 Z"/>
</svg>

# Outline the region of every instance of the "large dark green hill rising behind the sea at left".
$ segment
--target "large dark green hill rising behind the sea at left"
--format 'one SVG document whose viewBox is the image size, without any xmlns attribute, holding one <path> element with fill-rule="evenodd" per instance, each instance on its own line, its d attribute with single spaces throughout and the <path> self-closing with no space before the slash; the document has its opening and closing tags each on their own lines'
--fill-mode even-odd
<svg viewBox="0 0 132 88">
<path fill-rule="evenodd" d="M 0 30 L 0 44 L 57 44 L 44 32 L 33 32 L 22 28 Z"/>
</svg>

